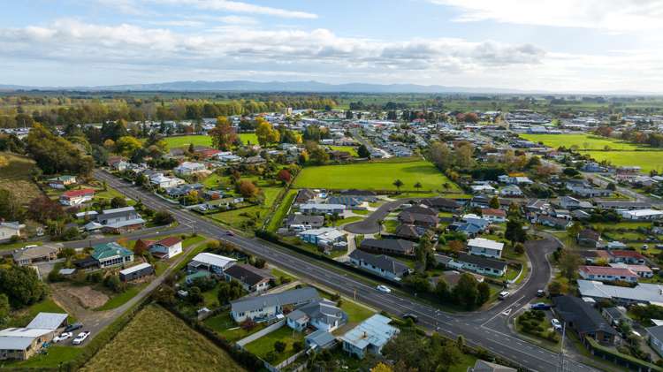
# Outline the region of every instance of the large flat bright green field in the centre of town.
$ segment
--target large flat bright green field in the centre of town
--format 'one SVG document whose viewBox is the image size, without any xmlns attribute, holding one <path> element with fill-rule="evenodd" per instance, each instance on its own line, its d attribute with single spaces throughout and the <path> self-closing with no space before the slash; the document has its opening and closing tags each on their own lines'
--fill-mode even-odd
<svg viewBox="0 0 663 372">
<path fill-rule="evenodd" d="M 392 185 L 396 179 L 403 182 L 403 186 L 400 187 L 403 191 L 417 191 L 415 189 L 417 182 L 422 184 L 420 189 L 422 192 L 442 190 L 442 185 L 445 183 L 451 186 L 449 191 L 458 190 L 458 186 L 438 171 L 433 164 L 418 159 L 306 167 L 295 179 L 294 186 L 396 190 L 396 186 Z"/>
</svg>

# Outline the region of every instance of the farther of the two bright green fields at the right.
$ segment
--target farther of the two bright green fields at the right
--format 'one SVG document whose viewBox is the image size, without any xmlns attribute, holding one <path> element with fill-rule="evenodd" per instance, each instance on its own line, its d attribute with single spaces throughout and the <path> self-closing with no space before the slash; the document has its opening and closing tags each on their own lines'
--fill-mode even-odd
<svg viewBox="0 0 663 372">
<path fill-rule="evenodd" d="M 606 146 L 613 150 L 636 150 L 645 148 L 633 143 L 612 140 L 592 134 L 521 134 L 525 140 L 543 142 L 550 148 L 577 146 L 579 150 L 603 150 Z"/>
</svg>

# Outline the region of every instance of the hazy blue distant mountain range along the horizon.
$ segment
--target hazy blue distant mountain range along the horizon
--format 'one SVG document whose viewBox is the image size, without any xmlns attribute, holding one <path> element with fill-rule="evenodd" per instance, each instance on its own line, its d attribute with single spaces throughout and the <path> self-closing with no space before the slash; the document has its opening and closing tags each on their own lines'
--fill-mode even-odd
<svg viewBox="0 0 663 372">
<path fill-rule="evenodd" d="M 446 87 L 440 85 L 417 84 L 369 84 L 347 83 L 328 84 L 319 81 L 270 81 L 259 82 L 249 80 L 229 81 L 171 81 L 153 84 L 125 84 L 95 87 L 27 87 L 18 85 L 2 85 L 0 91 L 16 90 L 64 90 L 64 91 L 141 91 L 141 92 L 301 92 L 301 93 L 461 93 L 461 94 L 557 94 L 545 91 L 528 91 L 521 89 L 505 89 L 497 87 Z M 590 94 L 588 92 L 568 92 L 568 94 Z M 604 95 L 646 95 L 643 92 L 601 92 Z"/>
</svg>

